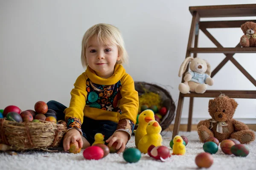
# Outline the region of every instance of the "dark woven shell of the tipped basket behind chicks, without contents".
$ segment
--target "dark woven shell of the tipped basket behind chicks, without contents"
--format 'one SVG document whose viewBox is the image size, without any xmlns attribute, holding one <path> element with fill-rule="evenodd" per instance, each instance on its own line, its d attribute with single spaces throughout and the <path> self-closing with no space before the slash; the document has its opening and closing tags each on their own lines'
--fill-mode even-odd
<svg viewBox="0 0 256 170">
<path fill-rule="evenodd" d="M 159 94 L 162 101 L 161 105 L 167 108 L 167 113 L 163 117 L 162 122 L 160 122 L 160 126 L 162 127 L 162 131 L 168 128 L 174 119 L 176 108 L 172 96 L 169 94 L 169 92 L 158 85 L 149 84 L 146 82 L 134 82 L 134 85 L 136 91 L 138 91 L 139 96 L 144 94 L 145 90 Z"/>
</svg>

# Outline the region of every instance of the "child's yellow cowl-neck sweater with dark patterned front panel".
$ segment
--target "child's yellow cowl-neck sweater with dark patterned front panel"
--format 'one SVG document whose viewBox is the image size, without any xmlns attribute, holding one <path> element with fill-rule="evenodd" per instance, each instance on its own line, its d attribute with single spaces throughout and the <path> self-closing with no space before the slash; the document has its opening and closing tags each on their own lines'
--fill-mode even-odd
<svg viewBox="0 0 256 170">
<path fill-rule="evenodd" d="M 131 135 L 134 127 L 129 125 L 136 124 L 139 97 L 134 80 L 122 65 L 116 65 L 108 79 L 97 76 L 88 66 L 76 79 L 70 94 L 70 106 L 64 111 L 66 121 L 73 118 L 82 124 L 84 116 L 110 120 L 118 123 L 117 130 L 127 131 Z"/>
</svg>

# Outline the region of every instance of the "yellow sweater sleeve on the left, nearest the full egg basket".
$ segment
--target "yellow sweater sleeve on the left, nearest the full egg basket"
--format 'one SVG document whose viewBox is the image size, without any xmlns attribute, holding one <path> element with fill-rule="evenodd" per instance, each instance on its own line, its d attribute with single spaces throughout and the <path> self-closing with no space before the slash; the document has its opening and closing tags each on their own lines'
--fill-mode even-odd
<svg viewBox="0 0 256 170">
<path fill-rule="evenodd" d="M 70 92 L 70 106 L 65 109 L 65 120 L 67 122 L 67 130 L 76 128 L 81 131 L 81 124 L 84 118 L 84 106 L 87 97 L 86 76 L 81 74 L 74 83 L 74 88 Z"/>
</svg>

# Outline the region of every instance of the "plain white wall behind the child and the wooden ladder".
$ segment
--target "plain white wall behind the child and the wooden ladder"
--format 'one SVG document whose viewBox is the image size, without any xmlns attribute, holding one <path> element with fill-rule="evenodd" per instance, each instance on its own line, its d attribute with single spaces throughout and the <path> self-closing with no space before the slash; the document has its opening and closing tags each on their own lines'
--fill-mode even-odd
<svg viewBox="0 0 256 170">
<path fill-rule="evenodd" d="M 33 109 L 35 102 L 57 100 L 69 105 L 70 91 L 84 71 L 80 63 L 81 39 L 96 23 L 110 23 L 123 34 L 130 56 L 126 71 L 135 81 L 167 86 L 173 99 L 180 64 L 186 54 L 192 16 L 189 6 L 255 3 L 255 0 L 1 0 L 0 1 L 0 108 L 17 105 Z M 256 19 L 256 17 L 241 17 Z M 204 19 L 205 20 L 205 19 Z M 212 20 L 212 19 L 210 19 Z M 215 20 L 228 20 L 218 18 Z M 224 47 L 234 47 L 241 29 L 209 29 Z M 200 32 L 199 47 L 215 47 Z M 256 54 L 234 57 L 256 78 Z M 198 54 L 212 69 L 224 54 Z M 209 89 L 256 90 L 236 67 L 228 62 Z M 169 87 L 168 87 L 169 85 Z M 182 121 L 188 117 L 188 101 Z M 209 118 L 209 98 L 196 98 L 194 121 Z M 256 123 L 256 99 L 236 99 L 235 118 Z"/>
</svg>

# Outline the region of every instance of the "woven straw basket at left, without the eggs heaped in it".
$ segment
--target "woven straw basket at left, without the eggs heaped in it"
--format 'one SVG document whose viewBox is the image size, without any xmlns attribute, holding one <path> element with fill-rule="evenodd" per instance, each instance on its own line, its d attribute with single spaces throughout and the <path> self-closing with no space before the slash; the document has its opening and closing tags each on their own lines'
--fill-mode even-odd
<svg viewBox="0 0 256 170">
<path fill-rule="evenodd" d="M 52 150 L 58 147 L 67 130 L 66 122 L 22 122 L 0 119 L 0 143 L 11 150 Z"/>
</svg>

